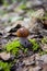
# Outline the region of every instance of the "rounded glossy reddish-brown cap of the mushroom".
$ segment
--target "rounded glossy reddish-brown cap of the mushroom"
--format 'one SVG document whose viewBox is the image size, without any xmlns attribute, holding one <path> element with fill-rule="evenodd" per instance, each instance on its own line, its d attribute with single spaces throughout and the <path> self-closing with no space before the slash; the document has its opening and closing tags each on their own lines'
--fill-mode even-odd
<svg viewBox="0 0 47 71">
<path fill-rule="evenodd" d="M 21 27 L 16 31 L 16 36 L 17 37 L 27 37 L 30 35 L 30 32 L 25 27 Z"/>
</svg>

